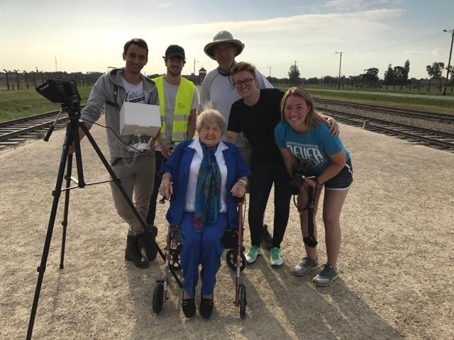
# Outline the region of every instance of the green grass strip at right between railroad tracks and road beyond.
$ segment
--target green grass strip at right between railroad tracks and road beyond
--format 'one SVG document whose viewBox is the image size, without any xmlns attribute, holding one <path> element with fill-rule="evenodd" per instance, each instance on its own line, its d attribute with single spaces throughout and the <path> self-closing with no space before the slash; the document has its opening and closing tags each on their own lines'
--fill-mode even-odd
<svg viewBox="0 0 454 340">
<path fill-rule="evenodd" d="M 282 89 L 286 91 L 287 89 Z M 411 110 L 428 111 L 433 113 L 448 113 L 454 115 L 454 101 L 424 97 L 399 97 L 382 94 L 357 94 L 354 92 L 317 91 L 307 89 L 314 98 L 331 99 L 334 101 L 351 101 L 372 105 L 389 106 L 392 108 L 408 108 Z"/>
</svg>

